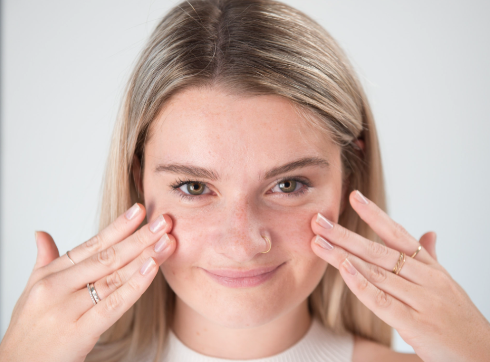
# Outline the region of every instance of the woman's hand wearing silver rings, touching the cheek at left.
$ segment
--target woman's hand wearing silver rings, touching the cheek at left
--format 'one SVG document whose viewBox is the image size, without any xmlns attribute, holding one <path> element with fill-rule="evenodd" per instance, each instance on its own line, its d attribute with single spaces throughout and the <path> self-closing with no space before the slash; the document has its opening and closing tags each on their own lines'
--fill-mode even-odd
<svg viewBox="0 0 490 362">
<path fill-rule="evenodd" d="M 133 205 L 69 252 L 75 265 L 59 256 L 49 234 L 37 233 L 36 263 L 0 344 L 2 361 L 85 359 L 175 250 L 175 238 L 166 234 L 171 218 L 159 215 L 135 232 L 144 217 L 143 205 Z M 93 282 L 101 299 L 96 305 L 86 287 Z"/>
</svg>

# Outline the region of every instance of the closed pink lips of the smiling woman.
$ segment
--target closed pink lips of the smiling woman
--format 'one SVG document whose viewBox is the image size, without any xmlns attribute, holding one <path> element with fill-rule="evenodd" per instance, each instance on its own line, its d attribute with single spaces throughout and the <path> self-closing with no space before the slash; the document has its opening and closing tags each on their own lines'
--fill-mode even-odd
<svg viewBox="0 0 490 362">
<path fill-rule="evenodd" d="M 204 269 L 215 282 L 230 288 L 251 288 L 271 279 L 283 265 L 259 267 L 255 269 Z"/>
</svg>

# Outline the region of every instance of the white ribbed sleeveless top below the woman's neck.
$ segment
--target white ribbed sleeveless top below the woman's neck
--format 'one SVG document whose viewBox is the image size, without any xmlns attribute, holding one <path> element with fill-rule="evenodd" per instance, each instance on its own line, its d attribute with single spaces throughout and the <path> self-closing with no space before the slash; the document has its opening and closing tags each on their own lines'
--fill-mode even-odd
<svg viewBox="0 0 490 362">
<path fill-rule="evenodd" d="M 187 347 L 170 331 L 163 362 L 350 362 L 353 348 L 352 335 L 335 334 L 314 319 L 308 332 L 295 345 L 274 356 L 258 359 L 206 356 Z"/>
</svg>

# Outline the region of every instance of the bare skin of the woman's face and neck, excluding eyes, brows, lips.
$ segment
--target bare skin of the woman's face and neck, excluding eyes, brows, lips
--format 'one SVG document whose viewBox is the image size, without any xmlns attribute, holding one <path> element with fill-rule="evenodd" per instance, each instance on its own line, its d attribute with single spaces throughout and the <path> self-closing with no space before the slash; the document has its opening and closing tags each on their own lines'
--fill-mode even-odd
<svg viewBox="0 0 490 362">
<path fill-rule="evenodd" d="M 177 295 L 172 328 L 196 351 L 224 358 L 273 355 L 298 341 L 310 325 L 306 298 L 327 263 L 311 250 L 309 220 L 318 210 L 338 218 L 342 174 L 339 148 L 301 123 L 280 97 L 189 89 L 153 124 L 141 192 L 150 219 L 162 213 L 172 217 L 177 248 L 161 270 Z M 260 179 L 273 167 L 305 157 L 329 165 Z M 213 168 L 221 179 L 190 177 L 205 182 L 206 189 L 199 200 L 182 200 L 185 191 L 168 185 L 184 175 L 158 171 L 170 162 Z M 277 186 L 284 176 L 306 177 L 314 187 L 286 195 Z M 268 249 L 261 235 L 272 240 L 269 253 L 261 253 Z M 276 265 L 281 267 L 273 279 L 252 288 L 222 286 L 203 272 Z"/>
</svg>

